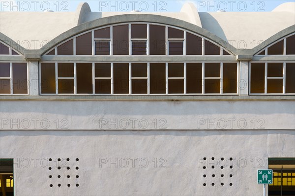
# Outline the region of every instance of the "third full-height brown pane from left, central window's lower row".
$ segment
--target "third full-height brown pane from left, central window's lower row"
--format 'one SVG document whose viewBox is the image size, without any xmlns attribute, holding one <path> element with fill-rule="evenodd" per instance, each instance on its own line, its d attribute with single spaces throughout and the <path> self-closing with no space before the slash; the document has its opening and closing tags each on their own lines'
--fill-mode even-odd
<svg viewBox="0 0 295 196">
<path fill-rule="evenodd" d="M 114 94 L 129 94 L 128 63 L 114 63 Z"/>
</svg>

